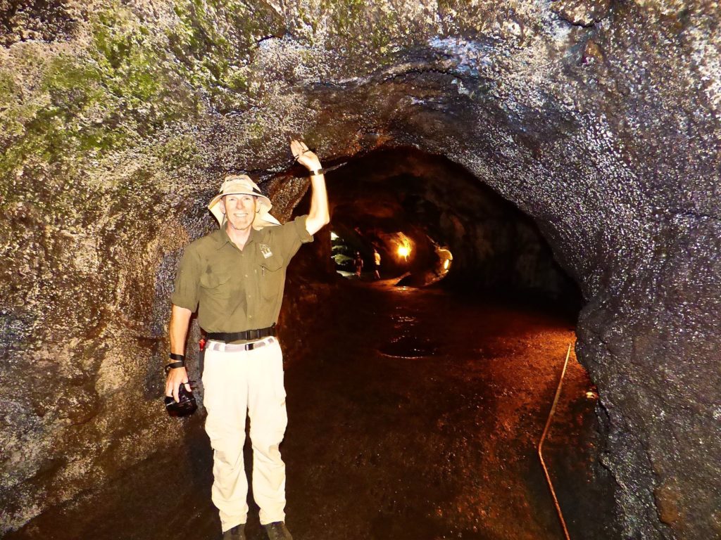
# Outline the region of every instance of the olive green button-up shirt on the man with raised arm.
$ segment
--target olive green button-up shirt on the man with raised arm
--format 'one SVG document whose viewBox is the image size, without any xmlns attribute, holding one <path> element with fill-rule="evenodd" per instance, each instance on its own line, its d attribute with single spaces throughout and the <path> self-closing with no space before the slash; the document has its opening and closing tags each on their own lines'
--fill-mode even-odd
<svg viewBox="0 0 721 540">
<path fill-rule="evenodd" d="M 252 229 L 242 250 L 225 227 L 195 240 L 180 260 L 172 303 L 198 310 L 198 324 L 206 332 L 273 325 L 283 302 L 288 263 L 301 243 L 313 241 L 306 217 Z"/>
</svg>

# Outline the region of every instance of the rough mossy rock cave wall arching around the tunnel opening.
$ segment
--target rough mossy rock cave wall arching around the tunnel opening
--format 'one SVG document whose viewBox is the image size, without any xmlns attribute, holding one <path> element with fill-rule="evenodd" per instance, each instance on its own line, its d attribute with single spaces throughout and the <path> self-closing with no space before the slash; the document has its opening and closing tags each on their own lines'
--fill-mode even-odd
<svg viewBox="0 0 721 540">
<path fill-rule="evenodd" d="M 167 293 L 228 172 L 281 218 L 415 145 L 583 290 L 624 538 L 721 535 L 721 14 L 710 1 L 50 0 L 0 17 L 3 531 L 162 451 Z M 47 493 L 47 495 L 45 495 Z"/>
</svg>

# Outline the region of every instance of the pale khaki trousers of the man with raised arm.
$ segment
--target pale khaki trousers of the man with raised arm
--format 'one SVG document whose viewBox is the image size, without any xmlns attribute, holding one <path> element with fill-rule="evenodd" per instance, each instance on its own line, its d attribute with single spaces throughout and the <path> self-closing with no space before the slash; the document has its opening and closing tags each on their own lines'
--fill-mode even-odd
<svg viewBox="0 0 721 540">
<path fill-rule="evenodd" d="M 253 448 L 253 495 L 260 523 L 285 521 L 286 465 L 278 445 L 288 425 L 283 353 L 278 338 L 252 351 L 208 342 L 203 367 L 205 431 L 213 447 L 212 499 L 223 531 L 245 523 L 248 482 L 243 463 L 246 411 Z"/>
</svg>

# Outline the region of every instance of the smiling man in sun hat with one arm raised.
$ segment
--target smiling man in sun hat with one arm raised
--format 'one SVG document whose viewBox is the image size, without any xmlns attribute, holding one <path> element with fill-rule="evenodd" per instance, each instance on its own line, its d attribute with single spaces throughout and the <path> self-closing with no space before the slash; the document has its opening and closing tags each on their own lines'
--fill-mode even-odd
<svg viewBox="0 0 721 540">
<path fill-rule="evenodd" d="M 286 267 L 302 243 L 329 222 L 318 157 L 291 140 L 298 163 L 311 171 L 308 215 L 280 225 L 271 202 L 248 176 L 226 176 L 208 209 L 220 229 L 187 246 L 178 266 L 170 316 L 165 394 L 188 387 L 185 339 L 190 316 L 208 335 L 203 369 L 205 431 L 213 447 L 211 497 L 224 540 L 244 540 L 248 482 L 243 463 L 246 414 L 251 420 L 253 494 L 270 540 L 292 540 L 285 524 L 286 466 L 278 446 L 286 432 L 286 390 L 278 322 Z"/>
</svg>

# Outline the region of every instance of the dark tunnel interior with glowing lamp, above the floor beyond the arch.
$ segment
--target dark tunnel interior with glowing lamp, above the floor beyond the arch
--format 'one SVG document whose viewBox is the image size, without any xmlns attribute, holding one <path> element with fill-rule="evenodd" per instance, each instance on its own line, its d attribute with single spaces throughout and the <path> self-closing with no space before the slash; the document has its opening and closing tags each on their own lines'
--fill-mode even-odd
<svg viewBox="0 0 721 540">
<path fill-rule="evenodd" d="M 328 182 L 329 228 L 338 237 L 330 256 L 337 268 L 352 271 L 358 251 L 372 277 L 376 248 L 381 277 L 399 278 L 399 284 L 423 287 L 442 279 L 444 287 L 464 294 L 545 301 L 578 313 L 578 286 L 533 220 L 447 158 L 381 148 L 351 158 L 328 174 Z M 294 214 L 307 207 L 306 195 Z M 321 257 L 328 256 L 327 240 Z M 399 253 L 404 244 L 407 255 Z"/>
</svg>

